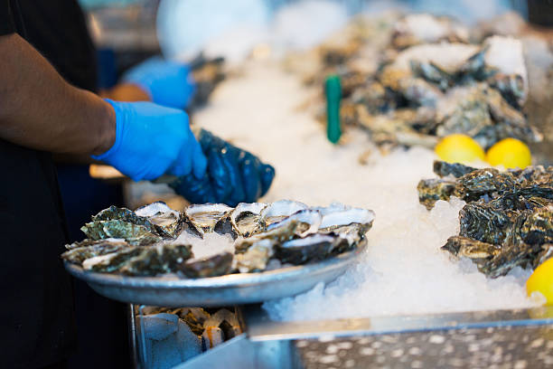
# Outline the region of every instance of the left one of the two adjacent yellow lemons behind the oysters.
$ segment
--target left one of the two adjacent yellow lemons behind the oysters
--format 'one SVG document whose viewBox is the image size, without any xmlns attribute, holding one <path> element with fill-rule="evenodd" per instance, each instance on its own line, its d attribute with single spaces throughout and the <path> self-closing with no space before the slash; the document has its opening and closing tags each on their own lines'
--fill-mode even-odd
<svg viewBox="0 0 553 369">
<path fill-rule="evenodd" d="M 466 135 L 455 134 L 442 138 L 434 149 L 440 159 L 448 163 L 468 164 L 484 159 L 483 148 Z"/>
</svg>

